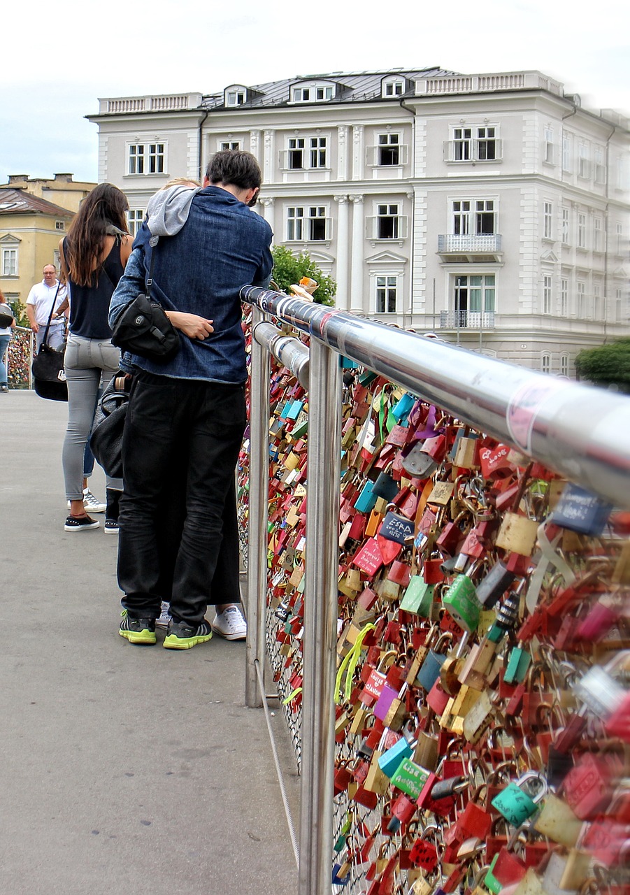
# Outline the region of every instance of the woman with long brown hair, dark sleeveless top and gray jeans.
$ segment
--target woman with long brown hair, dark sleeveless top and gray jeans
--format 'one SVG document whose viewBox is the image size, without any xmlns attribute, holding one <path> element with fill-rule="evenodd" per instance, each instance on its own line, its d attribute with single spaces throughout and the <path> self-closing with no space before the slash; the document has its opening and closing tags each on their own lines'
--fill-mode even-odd
<svg viewBox="0 0 630 895">
<path fill-rule="evenodd" d="M 59 243 L 61 269 L 70 289 L 70 320 L 65 349 L 68 428 L 64 440 L 65 496 L 70 515 L 64 531 L 98 528 L 83 504 L 83 452 L 94 421 L 99 391 L 118 370 L 120 352 L 107 323 L 109 302 L 132 251 L 124 193 L 99 183 L 82 201 L 67 236 Z M 118 533 L 118 502 L 123 482 L 106 478 L 106 533 Z"/>
</svg>

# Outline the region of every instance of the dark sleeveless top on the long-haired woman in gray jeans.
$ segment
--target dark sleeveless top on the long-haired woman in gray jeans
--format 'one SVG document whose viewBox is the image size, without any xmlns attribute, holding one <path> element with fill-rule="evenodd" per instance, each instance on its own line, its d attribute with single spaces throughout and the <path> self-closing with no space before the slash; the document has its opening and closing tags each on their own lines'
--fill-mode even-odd
<svg viewBox="0 0 630 895">
<path fill-rule="evenodd" d="M 66 240 L 64 255 L 67 258 Z M 94 286 L 77 286 L 68 277 L 70 284 L 70 332 L 73 336 L 85 338 L 111 338 L 112 330 L 107 323 L 109 303 L 124 268 L 120 260 L 120 237 L 115 237 L 112 250 L 98 271 Z"/>
</svg>

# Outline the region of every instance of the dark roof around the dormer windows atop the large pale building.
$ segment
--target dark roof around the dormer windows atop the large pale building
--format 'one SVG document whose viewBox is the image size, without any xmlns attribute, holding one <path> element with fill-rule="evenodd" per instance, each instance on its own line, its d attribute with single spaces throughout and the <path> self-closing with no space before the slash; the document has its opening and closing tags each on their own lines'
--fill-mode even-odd
<svg viewBox="0 0 630 895">
<path fill-rule="evenodd" d="M 423 69 L 389 69 L 388 71 L 377 72 L 328 72 L 328 74 L 304 74 L 296 75 L 294 78 L 285 78 L 283 81 L 268 81 L 265 84 L 246 84 L 239 85 L 247 87 L 247 101 L 240 106 L 230 106 L 230 111 L 235 109 L 251 109 L 268 106 L 288 106 L 294 107 L 297 104 L 289 103 L 290 88 L 304 81 L 331 81 L 337 85 L 336 96 L 333 99 L 327 99 L 313 103 L 300 103 L 300 106 L 327 106 L 330 104 L 367 102 L 368 100 L 381 99 L 381 81 L 388 76 L 400 76 L 407 81 L 407 90 L 404 90 L 403 96 L 413 95 L 413 81 L 421 78 L 439 78 L 442 76 L 456 74 L 457 72 L 447 72 L 445 69 L 438 67 L 430 67 Z M 230 85 L 232 86 L 232 85 Z M 224 106 L 224 93 L 211 93 L 204 96 L 201 105 L 205 108 L 217 108 Z M 396 97 L 395 99 L 399 99 Z M 227 107 L 226 107 L 227 108 Z"/>
</svg>

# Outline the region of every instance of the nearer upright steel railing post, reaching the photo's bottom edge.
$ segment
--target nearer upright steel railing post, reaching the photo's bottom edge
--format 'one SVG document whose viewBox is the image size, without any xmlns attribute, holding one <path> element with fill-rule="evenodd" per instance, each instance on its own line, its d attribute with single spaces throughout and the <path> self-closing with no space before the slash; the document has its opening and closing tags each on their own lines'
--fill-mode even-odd
<svg viewBox="0 0 630 895">
<path fill-rule="evenodd" d="M 341 370 L 311 339 L 299 895 L 329 895 L 333 849 Z"/>
</svg>

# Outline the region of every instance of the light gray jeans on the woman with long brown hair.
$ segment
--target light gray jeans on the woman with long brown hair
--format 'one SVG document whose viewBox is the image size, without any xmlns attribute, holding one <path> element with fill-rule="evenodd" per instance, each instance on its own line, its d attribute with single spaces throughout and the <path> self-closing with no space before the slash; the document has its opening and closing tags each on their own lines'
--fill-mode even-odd
<svg viewBox="0 0 630 895">
<path fill-rule="evenodd" d="M 118 370 L 120 351 L 109 339 L 68 337 L 65 378 L 68 383 L 68 428 L 64 440 L 65 496 L 83 499 L 83 451 L 94 422 L 98 390 Z M 123 490 L 122 479 L 106 476 L 106 487 Z"/>
</svg>

